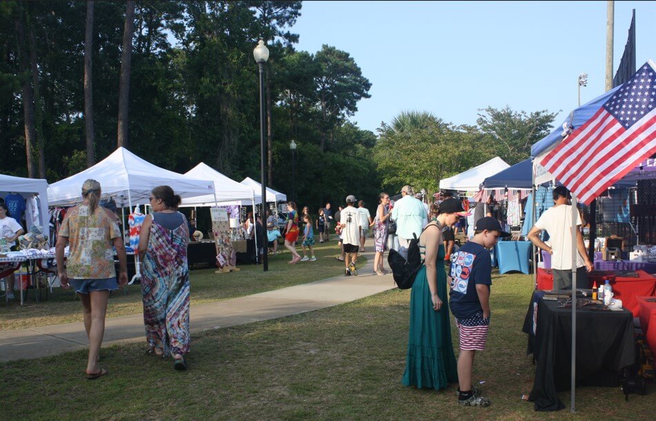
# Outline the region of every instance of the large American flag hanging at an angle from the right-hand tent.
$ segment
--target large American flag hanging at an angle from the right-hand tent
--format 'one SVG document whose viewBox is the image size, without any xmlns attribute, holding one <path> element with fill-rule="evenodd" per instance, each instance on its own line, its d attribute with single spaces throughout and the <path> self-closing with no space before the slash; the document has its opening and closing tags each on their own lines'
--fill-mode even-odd
<svg viewBox="0 0 656 421">
<path fill-rule="evenodd" d="M 586 123 L 537 161 L 589 205 L 656 151 L 656 70 L 652 61 Z"/>
</svg>

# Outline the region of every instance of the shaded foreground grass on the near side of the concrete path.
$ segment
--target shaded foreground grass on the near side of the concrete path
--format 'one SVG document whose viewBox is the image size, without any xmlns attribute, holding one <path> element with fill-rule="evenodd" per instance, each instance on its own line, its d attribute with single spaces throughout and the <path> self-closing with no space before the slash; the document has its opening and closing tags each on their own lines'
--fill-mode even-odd
<svg viewBox="0 0 656 421">
<path fill-rule="evenodd" d="M 428 391 L 401 385 L 409 291 L 398 289 L 345 305 L 192 337 L 190 369 L 143 354 L 144 344 L 103 349 L 110 374 L 83 379 L 86 352 L 0 364 L 0 418 L 183 419 L 504 419 L 574 418 L 537 413 L 521 400 L 535 367 L 521 324 L 532 280 L 495 275 L 488 349 L 478 353 L 475 382 L 489 408 L 461 408 L 455 385 Z M 453 324 L 453 318 L 452 318 Z M 457 341 L 453 329 L 454 342 Z M 455 348 L 457 349 L 457 347 Z M 576 418 L 651 419 L 647 396 L 618 388 L 577 389 Z M 566 404 L 568 393 L 560 393 Z"/>
</svg>

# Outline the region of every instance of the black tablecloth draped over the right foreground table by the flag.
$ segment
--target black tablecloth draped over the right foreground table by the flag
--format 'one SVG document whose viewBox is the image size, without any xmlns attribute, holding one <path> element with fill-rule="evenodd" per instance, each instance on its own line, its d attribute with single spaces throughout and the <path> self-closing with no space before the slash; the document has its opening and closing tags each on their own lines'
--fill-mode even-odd
<svg viewBox="0 0 656 421">
<path fill-rule="evenodd" d="M 533 294 L 522 329 L 535 360 L 528 400 L 536 411 L 556 411 L 564 408 L 557 392 L 570 389 L 572 309 L 541 294 Z M 619 371 L 635 362 L 631 312 L 577 309 L 576 324 L 576 385 L 618 386 Z"/>
</svg>

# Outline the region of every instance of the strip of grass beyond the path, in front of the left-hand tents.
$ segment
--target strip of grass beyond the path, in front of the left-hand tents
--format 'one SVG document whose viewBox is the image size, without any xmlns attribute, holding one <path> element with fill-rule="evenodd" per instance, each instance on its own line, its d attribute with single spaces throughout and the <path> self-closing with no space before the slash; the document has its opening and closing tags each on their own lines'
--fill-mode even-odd
<svg viewBox="0 0 656 421">
<path fill-rule="evenodd" d="M 291 255 L 281 246 L 279 250 L 284 250 L 282 254 L 269 256 L 269 271 L 266 273 L 261 265 L 239 265 L 240 271 L 229 274 L 215 274 L 217 268 L 192 270 L 191 304 L 206 304 L 257 294 L 344 273 L 344 263 L 333 258 L 339 253 L 337 241 L 323 244 L 317 242 L 314 249 L 316 262 L 288 265 Z M 302 256 L 301 248 L 298 247 L 297 250 Z M 360 256 L 358 266 L 365 265 L 366 261 L 366 258 Z M 28 293 L 29 299 L 22 307 L 19 300 L 6 305 L 4 298 L 0 298 L 0 330 L 26 329 L 82 320 L 80 302 L 75 299 L 71 290 L 54 288 L 52 294 L 48 294 L 48 300 L 38 303 L 34 301 L 34 291 L 29 290 Z M 45 294 L 42 294 L 42 297 L 45 298 Z M 139 314 L 141 311 L 143 307 L 139 285 L 128 285 L 125 294 L 119 290 L 110 296 L 108 317 Z"/>
</svg>

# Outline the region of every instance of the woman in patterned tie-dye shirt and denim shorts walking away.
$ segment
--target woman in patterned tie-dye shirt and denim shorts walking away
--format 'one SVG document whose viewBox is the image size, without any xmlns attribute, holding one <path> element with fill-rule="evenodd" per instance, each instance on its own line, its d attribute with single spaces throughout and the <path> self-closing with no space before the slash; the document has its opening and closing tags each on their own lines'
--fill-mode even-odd
<svg viewBox="0 0 656 421">
<path fill-rule="evenodd" d="M 105 332 L 105 315 L 110 291 L 117 289 L 114 253 L 120 263 L 118 284 L 128 283 L 128 259 L 116 215 L 99 207 L 100 183 L 87 180 L 82 185 L 82 203 L 66 213 L 57 238 L 56 256 L 59 282 L 77 292 L 83 308 L 84 328 L 89 338 L 86 378 L 93 380 L 108 373 L 98 367 L 98 353 Z M 70 245 L 68 261 L 64 249 Z"/>
</svg>

